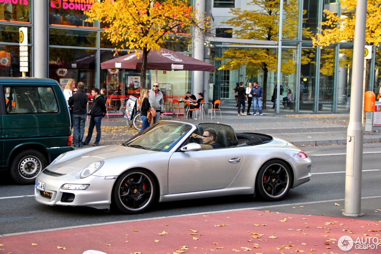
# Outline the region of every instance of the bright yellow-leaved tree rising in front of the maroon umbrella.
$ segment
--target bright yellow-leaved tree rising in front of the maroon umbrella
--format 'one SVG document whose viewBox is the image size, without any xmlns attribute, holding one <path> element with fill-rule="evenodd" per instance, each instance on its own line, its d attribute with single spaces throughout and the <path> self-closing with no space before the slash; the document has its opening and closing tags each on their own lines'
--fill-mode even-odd
<svg viewBox="0 0 381 254">
<path fill-rule="evenodd" d="M 96 2 L 85 14 L 91 21 L 109 24 L 104 33 L 110 42 L 122 43 L 120 47 L 128 49 L 128 53 L 136 50 L 141 54 L 141 84 L 146 84 L 150 50 L 159 50 L 166 40 L 178 40 L 176 36 L 186 27 L 194 27 L 198 34 L 209 28 L 208 16 L 202 18 L 203 14 L 186 0 L 104 0 Z"/>
</svg>

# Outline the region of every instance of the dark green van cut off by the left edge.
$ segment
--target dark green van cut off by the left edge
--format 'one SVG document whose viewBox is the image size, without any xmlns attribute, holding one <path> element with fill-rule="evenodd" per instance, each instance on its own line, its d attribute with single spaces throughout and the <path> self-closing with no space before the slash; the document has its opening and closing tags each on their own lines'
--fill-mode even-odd
<svg viewBox="0 0 381 254">
<path fill-rule="evenodd" d="M 71 146 L 69 109 L 58 82 L 32 77 L 0 77 L 0 170 L 20 184 Z"/>
</svg>

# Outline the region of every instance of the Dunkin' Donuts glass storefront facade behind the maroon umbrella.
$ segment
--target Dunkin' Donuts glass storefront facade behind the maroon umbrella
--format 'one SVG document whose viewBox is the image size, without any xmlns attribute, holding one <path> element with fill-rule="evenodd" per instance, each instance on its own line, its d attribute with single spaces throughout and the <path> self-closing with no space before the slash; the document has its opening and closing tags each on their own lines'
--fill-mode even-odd
<svg viewBox="0 0 381 254">
<path fill-rule="evenodd" d="M 106 88 L 107 95 L 138 95 L 140 87 L 149 86 L 156 78 L 155 71 L 147 71 L 147 84 L 129 85 L 140 80 L 140 70 L 101 69 L 100 63 L 127 54 L 120 51 L 114 56 L 115 45 L 104 35 L 106 23 L 87 22 L 83 10 L 88 10 L 96 0 L 49 0 L 48 7 L 48 77 L 64 87 L 68 80 L 85 83 L 86 92 L 91 88 Z M 34 54 L 32 0 L 0 0 L 0 76 L 20 77 L 19 27 L 28 28 L 29 72 L 33 75 L 31 59 Z M 192 32 L 182 29 L 178 42 L 162 45 L 173 51 L 192 56 Z M 3 60 L 1 60 L 3 59 Z M 185 96 L 192 86 L 191 71 L 158 71 L 160 83 L 172 84 L 173 96 Z M 153 81 L 152 81 L 152 80 Z M 111 97 L 113 98 L 113 97 Z"/>
</svg>

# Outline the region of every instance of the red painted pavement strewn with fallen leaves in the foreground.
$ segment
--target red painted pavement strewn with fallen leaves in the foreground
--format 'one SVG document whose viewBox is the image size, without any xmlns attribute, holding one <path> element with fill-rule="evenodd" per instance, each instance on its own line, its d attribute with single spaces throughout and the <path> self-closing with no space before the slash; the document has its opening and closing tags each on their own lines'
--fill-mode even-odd
<svg viewBox="0 0 381 254">
<path fill-rule="evenodd" d="M 332 254 L 345 253 L 337 246 L 342 235 L 364 241 L 381 239 L 381 221 L 255 210 L 221 212 L 3 236 L 0 254 L 82 254 L 86 250 Z M 373 249 L 353 248 L 346 253 L 381 253 L 381 246 L 373 245 Z"/>
</svg>

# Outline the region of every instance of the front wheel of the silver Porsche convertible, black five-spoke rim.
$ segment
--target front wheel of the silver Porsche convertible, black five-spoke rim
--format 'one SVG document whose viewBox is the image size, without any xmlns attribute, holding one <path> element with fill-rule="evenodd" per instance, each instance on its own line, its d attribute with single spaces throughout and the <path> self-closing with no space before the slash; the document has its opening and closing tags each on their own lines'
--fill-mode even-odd
<svg viewBox="0 0 381 254">
<path fill-rule="evenodd" d="M 113 205 L 125 214 L 145 212 L 155 200 L 154 177 L 144 169 L 124 172 L 115 182 L 112 191 Z"/>
</svg>

